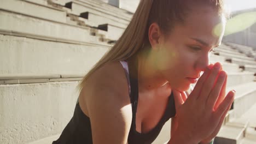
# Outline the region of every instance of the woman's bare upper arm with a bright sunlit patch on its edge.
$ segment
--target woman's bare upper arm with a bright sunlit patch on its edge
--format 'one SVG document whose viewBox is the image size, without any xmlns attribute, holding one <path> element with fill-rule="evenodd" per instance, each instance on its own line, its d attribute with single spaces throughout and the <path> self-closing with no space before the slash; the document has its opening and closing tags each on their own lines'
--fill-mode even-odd
<svg viewBox="0 0 256 144">
<path fill-rule="evenodd" d="M 86 98 L 92 141 L 95 144 L 127 143 L 132 121 L 127 83 L 123 75 L 106 75 L 97 78 Z"/>
</svg>

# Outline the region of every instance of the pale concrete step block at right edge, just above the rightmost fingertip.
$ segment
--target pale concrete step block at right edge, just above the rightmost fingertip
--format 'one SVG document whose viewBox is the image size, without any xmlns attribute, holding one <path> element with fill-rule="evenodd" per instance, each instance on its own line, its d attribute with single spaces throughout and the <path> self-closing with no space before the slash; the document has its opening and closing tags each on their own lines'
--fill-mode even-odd
<svg viewBox="0 0 256 144">
<path fill-rule="evenodd" d="M 253 72 L 228 73 L 227 87 L 241 85 L 242 83 L 253 82 Z"/>
</svg>

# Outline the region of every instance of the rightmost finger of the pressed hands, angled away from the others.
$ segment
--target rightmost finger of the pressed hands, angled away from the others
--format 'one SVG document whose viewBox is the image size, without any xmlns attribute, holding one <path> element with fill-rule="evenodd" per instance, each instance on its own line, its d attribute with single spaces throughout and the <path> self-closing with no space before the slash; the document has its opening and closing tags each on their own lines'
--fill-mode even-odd
<svg viewBox="0 0 256 144">
<path fill-rule="evenodd" d="M 225 110 L 232 104 L 234 101 L 235 91 L 230 91 L 225 99 L 222 101 L 222 103 L 217 107 L 217 110 L 214 111 L 214 117 L 220 118 Z"/>
</svg>

